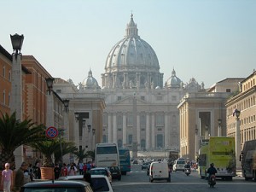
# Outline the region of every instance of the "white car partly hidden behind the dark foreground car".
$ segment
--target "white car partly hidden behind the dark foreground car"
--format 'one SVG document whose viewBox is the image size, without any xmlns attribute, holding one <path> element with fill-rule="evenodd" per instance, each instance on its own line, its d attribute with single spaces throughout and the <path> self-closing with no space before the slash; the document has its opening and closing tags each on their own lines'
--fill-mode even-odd
<svg viewBox="0 0 256 192">
<path fill-rule="evenodd" d="M 75 175 L 75 176 L 59 177 L 59 180 L 84 181 L 84 176 Z M 91 175 L 91 182 L 92 182 L 94 192 L 113 192 L 112 185 L 109 182 L 108 177 L 105 175 Z"/>
</svg>

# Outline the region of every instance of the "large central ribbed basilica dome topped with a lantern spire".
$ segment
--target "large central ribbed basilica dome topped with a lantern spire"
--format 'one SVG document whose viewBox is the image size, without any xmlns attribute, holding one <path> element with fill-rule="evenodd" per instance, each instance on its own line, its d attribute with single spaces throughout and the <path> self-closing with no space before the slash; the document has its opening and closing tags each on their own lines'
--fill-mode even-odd
<svg viewBox="0 0 256 192">
<path fill-rule="evenodd" d="M 131 87 L 151 88 L 150 84 L 162 87 L 163 74 L 154 49 L 138 35 L 137 24 L 131 20 L 122 38 L 110 50 L 105 73 L 102 74 L 102 86 L 107 88 Z"/>
</svg>

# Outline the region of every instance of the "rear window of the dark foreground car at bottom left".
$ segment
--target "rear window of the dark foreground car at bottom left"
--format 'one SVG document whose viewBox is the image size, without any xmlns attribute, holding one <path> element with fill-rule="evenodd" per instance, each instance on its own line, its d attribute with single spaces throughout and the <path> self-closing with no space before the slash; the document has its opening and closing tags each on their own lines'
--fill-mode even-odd
<svg viewBox="0 0 256 192">
<path fill-rule="evenodd" d="M 41 187 L 41 188 L 26 188 L 24 189 L 24 192 L 81 192 L 81 188 L 45 188 L 45 187 Z"/>
</svg>

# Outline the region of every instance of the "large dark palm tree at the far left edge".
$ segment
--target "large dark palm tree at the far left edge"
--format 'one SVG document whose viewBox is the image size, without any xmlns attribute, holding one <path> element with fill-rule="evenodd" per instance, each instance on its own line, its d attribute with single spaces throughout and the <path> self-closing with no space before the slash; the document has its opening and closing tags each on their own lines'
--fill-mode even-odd
<svg viewBox="0 0 256 192">
<path fill-rule="evenodd" d="M 20 121 L 16 119 L 16 113 L 10 116 L 8 113 L 3 114 L 0 118 L 0 170 L 6 162 L 10 163 L 10 168 L 15 169 L 15 154 L 16 148 L 29 143 L 42 141 L 42 136 L 45 131 L 44 125 L 35 125 L 32 119 Z"/>
</svg>

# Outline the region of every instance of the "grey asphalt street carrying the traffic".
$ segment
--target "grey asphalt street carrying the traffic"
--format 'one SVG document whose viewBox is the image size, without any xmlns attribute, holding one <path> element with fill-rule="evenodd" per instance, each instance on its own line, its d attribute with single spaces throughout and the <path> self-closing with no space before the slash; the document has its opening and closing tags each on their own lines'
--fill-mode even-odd
<svg viewBox="0 0 256 192">
<path fill-rule="evenodd" d="M 142 170 L 140 165 L 132 165 L 131 172 L 126 176 L 122 176 L 121 181 L 113 180 L 114 192 L 131 192 L 131 191 L 147 191 L 147 192 L 241 192 L 254 191 L 256 183 L 252 180 L 245 181 L 243 177 L 233 177 L 233 181 L 223 181 L 218 179 L 217 184 L 212 189 L 207 184 L 207 181 L 201 179 L 197 172 L 191 172 L 186 176 L 184 172 L 172 172 L 171 183 L 166 181 L 156 181 L 150 183 L 146 170 Z"/>
</svg>

